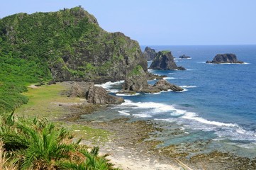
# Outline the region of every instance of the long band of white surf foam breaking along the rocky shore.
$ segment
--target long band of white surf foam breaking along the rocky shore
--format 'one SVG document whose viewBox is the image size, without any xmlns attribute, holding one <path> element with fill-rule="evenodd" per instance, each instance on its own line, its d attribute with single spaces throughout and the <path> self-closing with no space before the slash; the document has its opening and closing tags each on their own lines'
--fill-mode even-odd
<svg viewBox="0 0 256 170">
<path fill-rule="evenodd" d="M 116 106 L 118 112 L 123 115 L 133 115 L 138 118 L 151 118 L 157 115 L 168 114 L 169 118 L 155 118 L 155 120 L 164 120 L 176 122 L 185 128 L 194 130 L 213 131 L 218 138 L 213 140 L 248 140 L 256 142 L 256 132 L 244 130 L 235 123 L 223 123 L 214 120 L 207 120 L 198 114 L 185 109 L 176 108 L 174 105 L 155 102 L 133 102 L 125 100 L 119 106 Z M 132 114 L 131 114 L 132 113 Z"/>
</svg>

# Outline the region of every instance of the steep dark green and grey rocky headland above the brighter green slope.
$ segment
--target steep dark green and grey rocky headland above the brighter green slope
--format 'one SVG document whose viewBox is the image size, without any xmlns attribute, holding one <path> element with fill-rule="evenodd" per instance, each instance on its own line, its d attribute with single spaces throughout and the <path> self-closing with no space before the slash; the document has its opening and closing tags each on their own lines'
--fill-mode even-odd
<svg viewBox="0 0 256 170">
<path fill-rule="evenodd" d="M 0 50 L 40 65 L 41 78 L 55 81 L 120 80 L 140 65 L 138 42 L 107 33 L 81 7 L 51 13 L 18 13 L 0 20 Z"/>
</svg>

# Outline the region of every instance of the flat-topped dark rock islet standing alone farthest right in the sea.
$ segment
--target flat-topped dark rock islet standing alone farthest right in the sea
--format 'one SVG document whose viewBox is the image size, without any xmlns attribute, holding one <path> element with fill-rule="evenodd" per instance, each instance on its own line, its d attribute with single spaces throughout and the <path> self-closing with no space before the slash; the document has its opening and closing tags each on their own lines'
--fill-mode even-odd
<svg viewBox="0 0 256 170">
<path fill-rule="evenodd" d="M 236 63 L 236 64 L 243 64 L 238 60 L 235 54 L 223 54 L 223 55 L 216 55 L 212 61 L 207 61 L 206 63 L 211 64 L 223 64 L 223 63 Z"/>
</svg>

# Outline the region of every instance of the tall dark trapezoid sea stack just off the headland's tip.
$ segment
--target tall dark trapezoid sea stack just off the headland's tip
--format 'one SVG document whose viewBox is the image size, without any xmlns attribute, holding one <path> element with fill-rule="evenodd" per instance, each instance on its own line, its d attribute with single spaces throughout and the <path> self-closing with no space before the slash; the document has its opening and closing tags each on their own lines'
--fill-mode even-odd
<svg viewBox="0 0 256 170">
<path fill-rule="evenodd" d="M 185 70 L 184 67 L 177 67 L 176 63 L 174 62 L 174 57 L 170 51 L 160 51 L 157 52 L 152 64 L 150 65 L 149 69 L 179 69 Z"/>
</svg>

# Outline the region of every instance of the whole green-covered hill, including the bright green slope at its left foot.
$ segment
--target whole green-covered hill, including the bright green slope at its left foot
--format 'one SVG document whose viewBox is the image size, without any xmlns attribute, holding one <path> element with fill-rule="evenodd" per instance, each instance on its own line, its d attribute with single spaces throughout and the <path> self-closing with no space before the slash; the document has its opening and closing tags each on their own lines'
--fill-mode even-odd
<svg viewBox="0 0 256 170">
<path fill-rule="evenodd" d="M 0 111 L 26 103 L 28 98 L 19 93 L 31 83 L 110 77 L 126 69 L 121 64 L 132 64 L 138 49 L 122 33 L 102 30 L 80 6 L 1 18 Z M 51 72 L 60 75 L 52 77 Z"/>
</svg>

